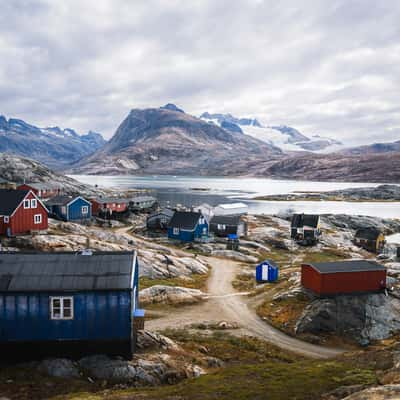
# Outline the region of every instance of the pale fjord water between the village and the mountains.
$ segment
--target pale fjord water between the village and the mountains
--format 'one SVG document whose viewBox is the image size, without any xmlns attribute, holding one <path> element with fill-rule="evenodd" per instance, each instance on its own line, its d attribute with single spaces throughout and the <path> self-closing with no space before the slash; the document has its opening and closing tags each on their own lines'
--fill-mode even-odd
<svg viewBox="0 0 400 400">
<path fill-rule="evenodd" d="M 278 214 L 285 211 L 319 214 L 356 214 L 381 218 L 400 217 L 400 202 L 342 201 L 257 201 L 257 196 L 376 187 L 378 183 L 311 182 L 266 178 L 225 178 L 201 176 L 93 176 L 74 175 L 80 182 L 105 188 L 148 189 L 162 206 L 187 207 L 224 201 L 242 201 L 253 214 Z"/>
</svg>

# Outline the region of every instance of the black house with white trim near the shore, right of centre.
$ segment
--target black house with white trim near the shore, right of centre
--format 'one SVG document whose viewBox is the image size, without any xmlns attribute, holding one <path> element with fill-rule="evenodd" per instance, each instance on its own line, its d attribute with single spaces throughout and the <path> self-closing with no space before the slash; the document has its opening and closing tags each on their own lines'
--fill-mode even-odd
<svg viewBox="0 0 400 400">
<path fill-rule="evenodd" d="M 321 219 L 315 214 L 293 214 L 290 237 L 304 245 L 315 244 L 321 236 Z"/>
</svg>

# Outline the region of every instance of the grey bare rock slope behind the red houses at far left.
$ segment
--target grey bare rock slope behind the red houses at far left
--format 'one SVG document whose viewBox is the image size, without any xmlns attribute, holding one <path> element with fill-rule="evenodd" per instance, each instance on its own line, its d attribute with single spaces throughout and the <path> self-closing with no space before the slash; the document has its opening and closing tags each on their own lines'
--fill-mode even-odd
<svg viewBox="0 0 400 400">
<path fill-rule="evenodd" d="M 66 193 L 92 195 L 95 188 L 83 185 L 75 179 L 51 171 L 44 165 L 26 158 L 0 153 L 0 178 L 10 182 L 52 182 L 63 187 Z"/>
</svg>

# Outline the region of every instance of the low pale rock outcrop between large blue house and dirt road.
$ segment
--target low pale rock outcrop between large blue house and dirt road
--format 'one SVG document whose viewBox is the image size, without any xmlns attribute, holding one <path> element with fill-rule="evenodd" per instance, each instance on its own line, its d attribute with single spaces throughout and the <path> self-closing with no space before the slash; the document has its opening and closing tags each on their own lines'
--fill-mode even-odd
<svg viewBox="0 0 400 400">
<path fill-rule="evenodd" d="M 177 286 L 155 285 L 139 292 L 140 304 L 193 304 L 202 301 L 205 294 L 198 289 Z"/>
</svg>

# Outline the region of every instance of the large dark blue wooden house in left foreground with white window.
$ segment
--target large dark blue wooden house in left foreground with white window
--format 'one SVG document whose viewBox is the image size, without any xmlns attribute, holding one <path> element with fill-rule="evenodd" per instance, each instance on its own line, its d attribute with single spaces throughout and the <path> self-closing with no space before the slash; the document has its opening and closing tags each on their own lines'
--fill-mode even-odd
<svg viewBox="0 0 400 400">
<path fill-rule="evenodd" d="M 0 354 L 131 358 L 138 268 L 135 252 L 0 253 Z"/>
</svg>

